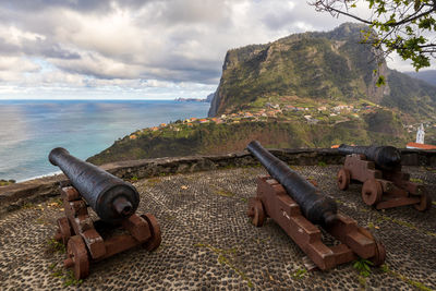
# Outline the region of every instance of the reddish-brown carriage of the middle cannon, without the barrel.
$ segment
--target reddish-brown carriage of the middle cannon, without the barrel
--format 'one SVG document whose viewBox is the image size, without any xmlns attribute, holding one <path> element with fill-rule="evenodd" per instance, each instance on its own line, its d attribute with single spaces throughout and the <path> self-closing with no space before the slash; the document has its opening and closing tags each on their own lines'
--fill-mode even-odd
<svg viewBox="0 0 436 291">
<path fill-rule="evenodd" d="M 256 227 L 262 227 L 270 217 L 322 270 L 354 260 L 358 256 L 371 259 L 376 266 L 385 262 L 383 244 L 355 220 L 340 213 L 335 222 L 324 229 L 341 243 L 334 246 L 324 244 L 320 229 L 304 217 L 299 204 L 270 177 L 257 179 L 257 195 L 249 201 L 247 216 Z"/>
</svg>

